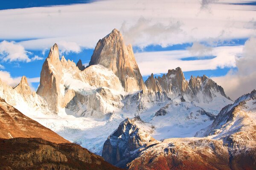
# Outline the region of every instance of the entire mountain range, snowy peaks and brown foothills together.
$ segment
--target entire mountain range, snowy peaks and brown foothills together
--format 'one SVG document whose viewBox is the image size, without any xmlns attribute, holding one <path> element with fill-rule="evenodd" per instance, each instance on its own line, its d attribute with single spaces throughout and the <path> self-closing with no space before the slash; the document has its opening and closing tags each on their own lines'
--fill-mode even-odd
<svg viewBox="0 0 256 170">
<path fill-rule="evenodd" d="M 0 80 L 0 111 L 0 144 L 13 148 L 1 147 L 0 162 L 8 158 L 15 163 L 5 166 L 13 169 L 45 161 L 48 169 L 242 170 L 256 164 L 255 90 L 233 102 L 209 77 L 188 81 L 179 67 L 144 82 L 132 46 L 116 29 L 98 41 L 86 67 L 81 59 L 60 58 L 54 44 L 36 92 L 25 76 L 16 87 Z M 16 144 L 29 146 L 22 165 L 24 156 L 12 159 L 21 154 Z"/>
</svg>

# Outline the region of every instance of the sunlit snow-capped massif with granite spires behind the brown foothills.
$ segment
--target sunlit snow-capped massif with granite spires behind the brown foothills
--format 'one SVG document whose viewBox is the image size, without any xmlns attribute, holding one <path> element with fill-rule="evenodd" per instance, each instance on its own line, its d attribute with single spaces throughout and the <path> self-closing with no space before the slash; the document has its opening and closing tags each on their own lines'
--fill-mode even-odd
<svg viewBox="0 0 256 170">
<path fill-rule="evenodd" d="M 180 68 L 144 83 L 131 45 L 114 29 L 96 45 L 89 66 L 59 57 L 55 44 L 37 92 L 24 77 L 16 88 L 0 83 L 0 97 L 65 139 L 102 154 L 109 135 L 127 117 L 154 126 L 156 140 L 192 137 L 233 103 L 210 78 L 189 82 Z"/>
</svg>

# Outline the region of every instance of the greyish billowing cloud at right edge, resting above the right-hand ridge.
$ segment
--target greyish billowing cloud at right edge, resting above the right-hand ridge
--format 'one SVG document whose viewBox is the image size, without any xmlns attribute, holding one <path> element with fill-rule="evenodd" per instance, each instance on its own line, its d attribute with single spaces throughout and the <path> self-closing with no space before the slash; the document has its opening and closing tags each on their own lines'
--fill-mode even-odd
<svg viewBox="0 0 256 170">
<path fill-rule="evenodd" d="M 256 38 L 244 44 L 243 54 L 236 58 L 237 71 L 230 71 L 223 77 L 212 77 L 232 99 L 256 89 Z"/>
</svg>

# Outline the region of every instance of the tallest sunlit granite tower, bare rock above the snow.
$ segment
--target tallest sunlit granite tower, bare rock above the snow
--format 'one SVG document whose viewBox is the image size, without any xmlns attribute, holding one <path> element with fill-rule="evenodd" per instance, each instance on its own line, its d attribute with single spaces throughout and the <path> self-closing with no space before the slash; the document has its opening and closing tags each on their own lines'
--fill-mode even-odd
<svg viewBox="0 0 256 170">
<path fill-rule="evenodd" d="M 132 46 L 125 45 L 122 34 L 116 29 L 97 43 L 89 66 L 97 64 L 111 69 L 126 92 L 146 88 Z"/>
</svg>

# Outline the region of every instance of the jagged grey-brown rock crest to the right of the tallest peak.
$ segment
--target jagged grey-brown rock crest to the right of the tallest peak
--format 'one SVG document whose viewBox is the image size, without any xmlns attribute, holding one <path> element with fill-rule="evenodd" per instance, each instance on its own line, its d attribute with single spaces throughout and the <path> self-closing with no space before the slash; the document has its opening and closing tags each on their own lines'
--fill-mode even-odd
<svg viewBox="0 0 256 170">
<path fill-rule="evenodd" d="M 205 75 L 191 77 L 187 82 L 179 67 L 168 70 L 168 73 L 163 74 L 162 77 L 154 78 L 151 74 L 145 81 L 145 85 L 153 91 L 165 91 L 171 98 L 182 96 L 193 102 L 211 102 L 216 96 L 223 96 L 230 100 L 223 88 Z"/>
</svg>

